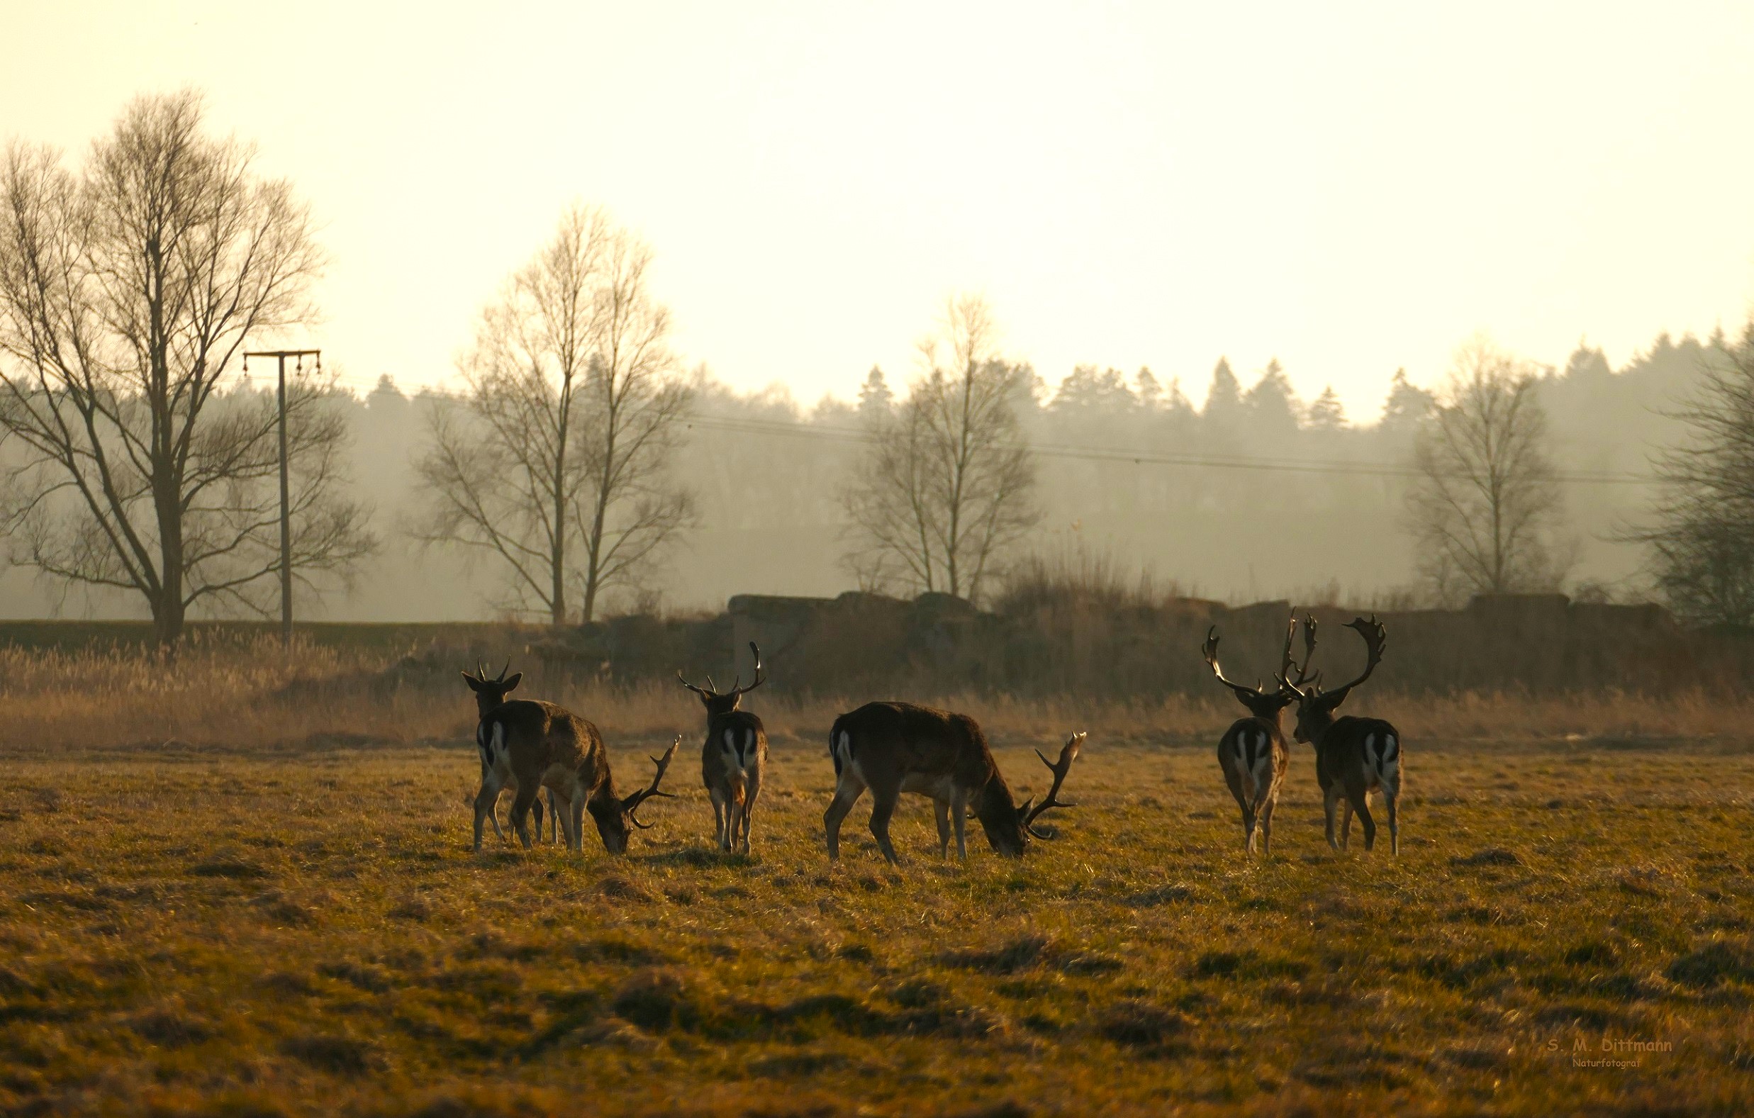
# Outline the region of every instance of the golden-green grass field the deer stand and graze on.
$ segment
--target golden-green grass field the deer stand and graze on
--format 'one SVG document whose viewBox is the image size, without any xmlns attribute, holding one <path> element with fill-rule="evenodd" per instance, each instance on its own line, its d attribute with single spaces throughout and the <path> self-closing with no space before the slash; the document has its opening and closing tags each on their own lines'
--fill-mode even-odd
<svg viewBox="0 0 1754 1118">
<path fill-rule="evenodd" d="M 826 862 L 812 741 L 751 858 L 693 762 L 610 858 L 472 855 L 463 742 L 0 760 L 5 1113 L 1754 1107 L 1743 744 L 1414 739 L 1400 858 L 1326 849 L 1300 748 L 1251 864 L 1209 748 L 1093 734 L 1059 841 L 942 864 L 909 797 L 900 871 L 868 799 Z"/>
</svg>

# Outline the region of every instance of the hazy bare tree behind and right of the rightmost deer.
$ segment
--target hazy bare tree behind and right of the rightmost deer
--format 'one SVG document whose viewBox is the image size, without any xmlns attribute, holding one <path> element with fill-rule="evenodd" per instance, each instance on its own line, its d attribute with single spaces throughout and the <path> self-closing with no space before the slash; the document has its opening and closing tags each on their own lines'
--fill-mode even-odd
<svg viewBox="0 0 1754 1118">
<path fill-rule="evenodd" d="M 1442 600 L 1556 588 L 1561 502 L 1535 370 L 1486 339 L 1456 351 L 1414 442 L 1408 520 Z"/>
</svg>

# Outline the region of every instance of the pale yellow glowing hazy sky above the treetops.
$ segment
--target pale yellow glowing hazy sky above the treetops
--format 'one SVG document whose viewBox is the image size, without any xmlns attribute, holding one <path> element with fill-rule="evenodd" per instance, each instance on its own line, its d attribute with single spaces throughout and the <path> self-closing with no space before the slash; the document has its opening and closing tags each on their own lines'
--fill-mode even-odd
<svg viewBox="0 0 1754 1118">
<path fill-rule="evenodd" d="M 679 348 L 852 395 L 979 288 L 1009 349 L 1205 391 L 1279 356 L 1375 414 L 1475 330 L 1615 363 L 1754 300 L 1754 4 L 37 4 L 0 133 L 142 91 L 291 176 L 316 335 L 451 376 L 572 198 L 658 251 Z"/>
</svg>

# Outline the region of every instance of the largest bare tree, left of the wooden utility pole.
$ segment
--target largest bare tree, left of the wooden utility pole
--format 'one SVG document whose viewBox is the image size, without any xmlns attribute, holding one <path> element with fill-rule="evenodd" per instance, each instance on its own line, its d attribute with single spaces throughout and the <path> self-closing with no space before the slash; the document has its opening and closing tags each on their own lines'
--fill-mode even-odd
<svg viewBox="0 0 1754 1118">
<path fill-rule="evenodd" d="M 142 97 L 75 174 L 12 144 L 0 214 L 0 500 L 12 560 L 139 593 L 163 646 L 205 606 L 265 611 L 279 570 L 272 395 L 228 391 L 244 340 L 309 321 L 310 216 L 195 93 Z M 374 544 L 339 495 L 330 384 L 288 386 L 293 565 Z"/>
</svg>

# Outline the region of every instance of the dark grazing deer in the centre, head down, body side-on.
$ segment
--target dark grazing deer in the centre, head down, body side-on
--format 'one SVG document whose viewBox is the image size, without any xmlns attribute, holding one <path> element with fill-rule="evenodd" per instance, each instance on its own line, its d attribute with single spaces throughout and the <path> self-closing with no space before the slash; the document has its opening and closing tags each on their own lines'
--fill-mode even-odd
<svg viewBox="0 0 1754 1118">
<path fill-rule="evenodd" d="M 898 858 L 889 842 L 889 818 L 903 792 L 930 795 L 937 802 L 940 858 L 949 853 L 952 823 L 956 856 L 968 856 L 963 825 L 970 809 L 980 820 L 995 851 L 1021 858 L 1031 835 L 1054 837 L 1031 827 L 1037 816 L 1051 807 L 1075 806 L 1058 797 L 1082 744 L 1084 734 L 1068 737 L 1059 749 L 1058 763 L 1037 749 L 1035 755 L 1054 774 L 1054 786 L 1035 807 L 1030 807 L 1030 800 L 1019 806 L 1012 800 L 1010 788 L 993 762 L 986 734 L 973 718 L 910 702 L 868 702 L 837 718 L 828 732 L 828 755 L 835 762 L 837 778 L 835 799 L 823 814 L 828 856 L 830 860 L 840 856 L 840 823 L 870 788 L 872 835 L 891 864 Z"/>
</svg>

